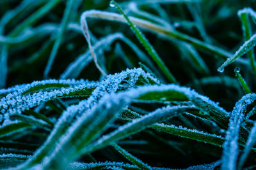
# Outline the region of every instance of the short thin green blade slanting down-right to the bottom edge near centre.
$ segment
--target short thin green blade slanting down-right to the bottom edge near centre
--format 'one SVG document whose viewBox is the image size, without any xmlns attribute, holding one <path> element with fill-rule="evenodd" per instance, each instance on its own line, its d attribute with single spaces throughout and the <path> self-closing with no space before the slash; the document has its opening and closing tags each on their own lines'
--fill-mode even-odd
<svg viewBox="0 0 256 170">
<path fill-rule="evenodd" d="M 134 155 L 131 155 L 131 153 L 127 152 L 126 150 L 124 150 L 124 148 L 120 147 L 119 145 L 117 145 L 116 143 L 112 143 L 111 144 L 119 153 L 121 153 L 122 155 L 124 155 L 124 157 L 126 159 L 128 159 L 130 162 L 132 162 L 132 164 L 140 167 L 141 169 L 151 169 L 151 167 L 149 167 L 147 164 L 145 164 L 144 162 L 142 162 L 140 159 L 134 157 Z"/>
</svg>

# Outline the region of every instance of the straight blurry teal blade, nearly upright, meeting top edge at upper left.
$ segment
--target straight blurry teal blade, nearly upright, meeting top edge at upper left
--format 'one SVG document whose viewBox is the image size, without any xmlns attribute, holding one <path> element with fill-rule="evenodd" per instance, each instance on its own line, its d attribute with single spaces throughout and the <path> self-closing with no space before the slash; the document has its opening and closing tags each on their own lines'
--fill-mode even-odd
<svg viewBox="0 0 256 170">
<path fill-rule="evenodd" d="M 61 29 L 60 29 L 60 32 L 58 32 L 58 35 L 57 35 L 56 40 L 54 42 L 54 45 L 52 47 L 52 51 L 51 51 L 49 60 L 47 62 L 47 66 L 45 67 L 44 77 L 47 77 L 49 72 L 51 71 L 52 64 L 53 64 L 54 59 L 57 55 L 58 48 L 60 47 L 61 39 L 63 38 L 64 33 L 66 31 L 67 24 L 68 24 L 68 19 L 69 19 L 70 13 L 72 13 L 72 8 L 74 6 L 74 3 L 75 3 L 74 0 L 68 0 L 67 3 L 66 3 L 66 8 L 65 8 L 65 11 L 64 11 L 64 15 L 63 15 L 63 18 L 61 20 Z"/>
</svg>

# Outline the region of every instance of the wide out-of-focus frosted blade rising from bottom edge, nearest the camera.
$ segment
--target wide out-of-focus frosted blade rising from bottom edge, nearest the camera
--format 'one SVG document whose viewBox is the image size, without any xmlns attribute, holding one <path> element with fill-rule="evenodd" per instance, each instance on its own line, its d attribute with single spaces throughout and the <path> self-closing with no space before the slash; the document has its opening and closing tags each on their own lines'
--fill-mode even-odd
<svg viewBox="0 0 256 170">
<path fill-rule="evenodd" d="M 109 101 L 109 99 L 113 98 L 103 97 L 99 104 L 95 104 L 91 110 L 88 110 L 86 114 L 83 114 L 79 120 L 68 128 L 58 144 L 61 149 L 59 147 L 54 149 L 49 155 L 49 159 L 44 159 L 44 169 L 63 169 L 69 162 L 76 159 L 77 155 L 74 153 L 79 152 L 84 145 L 98 138 L 109 124 L 116 119 L 116 116 L 126 106 L 127 102 L 129 103 L 125 99 L 114 99 L 114 101 Z M 79 138 L 77 138 L 78 135 Z M 60 156 L 63 154 L 63 150 L 68 155 L 61 159 Z"/>
</svg>

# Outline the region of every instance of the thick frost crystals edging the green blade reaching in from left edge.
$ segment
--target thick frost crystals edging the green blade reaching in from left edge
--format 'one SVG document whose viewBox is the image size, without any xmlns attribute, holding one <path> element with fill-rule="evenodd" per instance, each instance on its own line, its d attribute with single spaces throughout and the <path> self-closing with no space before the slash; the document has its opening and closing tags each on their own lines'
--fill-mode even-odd
<svg viewBox="0 0 256 170">
<path fill-rule="evenodd" d="M 23 94 L 27 90 L 38 87 L 39 85 L 54 85 L 56 83 L 68 85 L 68 87 L 61 87 L 60 89 L 50 91 L 40 90 L 39 92 L 35 91 L 32 94 Z M 41 102 L 49 101 L 63 95 L 68 96 L 68 94 L 72 94 L 72 92 L 76 92 L 77 90 L 93 88 L 96 85 L 97 84 L 95 82 L 90 82 L 87 80 L 42 80 L 34 81 L 33 83 L 27 85 L 17 85 L 16 87 L 2 90 L 3 92 L 11 93 L 0 99 L 0 109 L 2 113 L 21 113 L 21 111 L 38 106 Z"/>
</svg>

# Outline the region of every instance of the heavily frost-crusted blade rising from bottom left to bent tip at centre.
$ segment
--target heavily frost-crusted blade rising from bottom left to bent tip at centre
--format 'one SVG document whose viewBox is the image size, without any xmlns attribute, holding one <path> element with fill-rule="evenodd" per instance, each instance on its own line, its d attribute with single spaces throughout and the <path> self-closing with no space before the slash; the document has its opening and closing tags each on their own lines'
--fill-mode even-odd
<svg viewBox="0 0 256 170">
<path fill-rule="evenodd" d="M 69 106 L 67 110 L 63 112 L 58 120 L 58 123 L 54 126 L 54 129 L 45 141 L 42 148 L 36 151 L 34 157 L 17 168 L 28 169 L 42 162 L 45 155 L 52 153 L 54 148 L 56 148 L 56 141 L 58 141 L 61 136 L 67 132 L 67 129 L 72 125 L 72 123 L 79 119 L 84 112 L 92 108 L 94 104 L 97 104 L 105 94 L 116 92 L 116 90 L 120 88 L 122 82 L 127 81 L 127 88 L 134 87 L 136 82 L 140 81 L 140 75 L 146 79 L 150 78 L 158 82 L 155 78 L 150 76 L 150 74 L 145 73 L 142 69 L 127 69 L 126 71 L 122 71 L 122 73 L 107 76 L 107 78 L 102 80 L 97 85 L 97 88 L 93 90 L 92 95 L 88 98 L 88 100 L 81 101 L 75 106 Z"/>
</svg>

